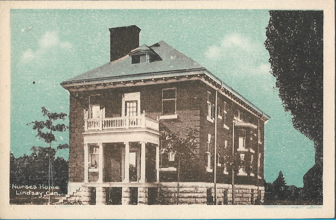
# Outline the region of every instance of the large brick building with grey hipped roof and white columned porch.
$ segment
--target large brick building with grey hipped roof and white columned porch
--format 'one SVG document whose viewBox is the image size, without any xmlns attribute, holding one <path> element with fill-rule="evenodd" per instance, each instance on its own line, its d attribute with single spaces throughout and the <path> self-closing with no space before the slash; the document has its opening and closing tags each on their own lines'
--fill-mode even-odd
<svg viewBox="0 0 336 220">
<path fill-rule="evenodd" d="M 111 61 L 61 83 L 70 92 L 68 194 L 85 204 L 174 204 L 176 161 L 162 131 L 196 128 L 197 165 L 179 203 L 263 200 L 262 112 L 200 64 L 136 26 L 111 28 Z M 236 172 L 224 155 L 238 155 Z M 215 178 L 216 177 L 216 178 Z"/>
</svg>

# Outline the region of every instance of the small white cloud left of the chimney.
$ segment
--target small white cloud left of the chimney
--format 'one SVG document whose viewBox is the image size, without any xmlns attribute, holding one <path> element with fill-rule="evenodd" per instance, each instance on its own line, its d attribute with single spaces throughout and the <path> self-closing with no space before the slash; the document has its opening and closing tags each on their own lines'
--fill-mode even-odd
<svg viewBox="0 0 336 220">
<path fill-rule="evenodd" d="M 22 60 L 24 62 L 32 61 L 39 57 L 44 57 L 46 53 L 53 52 L 57 49 L 70 49 L 72 44 L 69 41 L 61 41 L 59 39 L 58 32 L 47 31 L 38 41 L 38 47 L 35 51 L 27 49 L 22 54 Z"/>
</svg>

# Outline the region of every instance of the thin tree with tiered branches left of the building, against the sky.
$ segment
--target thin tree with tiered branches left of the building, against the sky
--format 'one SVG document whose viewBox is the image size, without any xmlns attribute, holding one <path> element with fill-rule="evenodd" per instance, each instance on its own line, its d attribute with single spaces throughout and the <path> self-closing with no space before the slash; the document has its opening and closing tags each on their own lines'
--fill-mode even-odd
<svg viewBox="0 0 336 220">
<path fill-rule="evenodd" d="M 65 124 L 56 124 L 53 123 L 57 120 L 65 120 L 65 117 L 67 116 L 66 113 L 51 113 L 49 112 L 44 106 L 42 107 L 42 113 L 43 116 L 47 116 L 48 119 L 45 121 L 33 121 L 31 123 L 28 123 L 27 125 L 33 125 L 33 130 L 37 131 L 36 137 L 44 140 L 47 144 L 49 144 L 49 147 L 43 147 L 43 146 L 33 146 L 32 150 L 38 152 L 48 151 L 45 152 L 45 155 L 48 157 L 48 186 L 50 186 L 50 180 L 51 180 L 51 186 L 53 186 L 53 164 L 52 161 L 54 161 L 56 151 L 58 149 L 64 149 L 68 148 L 68 144 L 59 144 L 56 149 L 52 148 L 52 142 L 56 142 L 56 137 L 53 134 L 53 132 L 64 132 L 67 129 L 67 126 Z M 50 178 L 51 177 L 51 178 Z M 49 204 L 50 204 L 50 187 L 49 187 Z"/>
</svg>

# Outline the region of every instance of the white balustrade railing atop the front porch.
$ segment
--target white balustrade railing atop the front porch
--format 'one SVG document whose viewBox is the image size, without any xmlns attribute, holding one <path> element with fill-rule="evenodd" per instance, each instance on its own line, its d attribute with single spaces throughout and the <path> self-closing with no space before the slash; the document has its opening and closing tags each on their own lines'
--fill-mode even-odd
<svg viewBox="0 0 336 220">
<path fill-rule="evenodd" d="M 159 122 L 144 115 L 85 119 L 85 131 L 105 129 L 150 128 L 159 131 Z"/>
</svg>

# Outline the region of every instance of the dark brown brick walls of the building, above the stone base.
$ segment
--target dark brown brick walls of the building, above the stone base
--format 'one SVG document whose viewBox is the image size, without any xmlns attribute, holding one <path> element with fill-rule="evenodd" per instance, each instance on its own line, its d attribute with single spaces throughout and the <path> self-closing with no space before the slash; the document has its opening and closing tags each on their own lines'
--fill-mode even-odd
<svg viewBox="0 0 336 220">
<path fill-rule="evenodd" d="M 204 153 L 207 148 L 208 134 L 211 134 L 212 145 L 212 168 L 214 164 L 214 123 L 207 120 L 207 91 L 212 93 L 212 101 L 215 103 L 215 90 L 205 83 L 197 81 L 184 81 L 166 84 L 144 85 L 144 86 L 132 86 L 122 87 L 114 89 L 102 89 L 96 91 L 83 91 L 70 94 L 70 181 L 82 182 L 84 180 L 84 148 L 83 148 L 83 135 L 84 132 L 84 109 L 88 108 L 88 97 L 91 94 L 101 94 L 101 106 L 105 107 L 105 116 L 118 117 L 121 116 L 122 107 L 122 94 L 129 92 L 140 92 L 140 111 L 146 112 L 146 116 L 152 119 L 157 119 L 161 116 L 162 111 L 162 89 L 163 88 L 176 88 L 177 94 L 177 107 L 176 114 L 177 119 L 164 119 L 160 120 L 160 130 L 168 130 L 176 133 L 186 134 L 187 128 L 194 127 L 200 131 L 199 145 L 196 149 L 196 154 L 199 158 L 200 177 L 198 181 L 213 182 L 213 172 L 206 172 L 204 166 Z M 223 96 L 218 92 L 218 98 L 221 99 L 221 103 L 227 103 L 227 126 L 229 130 L 223 127 L 224 119 L 217 120 L 217 146 L 220 146 L 221 152 L 224 153 L 224 141 L 227 140 L 226 153 L 232 154 L 232 127 L 233 127 L 233 107 L 238 108 L 246 115 L 246 121 L 258 125 L 258 118 L 249 112 L 245 111 L 239 105 L 233 103 L 231 100 Z M 223 117 L 223 108 L 221 109 L 221 116 Z M 236 130 L 236 129 L 235 129 Z M 247 130 L 246 139 L 249 140 L 249 131 Z M 254 129 L 253 129 L 254 130 Z M 263 143 L 263 122 L 260 120 L 261 130 L 261 142 Z M 236 132 L 236 131 L 235 131 Z M 257 129 L 256 129 L 257 133 Z M 236 136 L 236 135 L 235 135 Z M 257 137 L 255 137 L 257 140 Z M 248 141 L 247 141 L 248 142 Z M 257 165 L 257 150 L 254 144 L 255 156 L 254 163 Z M 235 138 L 235 151 L 238 148 L 238 137 Z M 217 148 L 218 149 L 218 148 Z M 263 145 L 259 146 L 259 152 L 261 152 L 261 174 L 263 177 Z M 166 157 L 166 156 L 164 156 Z M 170 162 L 174 166 L 174 162 Z M 169 165 L 169 166 L 170 166 Z M 176 165 L 175 165 L 176 166 Z M 228 175 L 224 175 L 220 167 L 217 167 L 217 177 L 219 182 L 230 183 L 231 174 L 230 169 L 227 170 Z M 174 172 L 161 172 L 160 179 L 175 179 Z M 255 177 L 256 177 L 255 172 Z M 170 178 L 171 177 L 171 178 Z M 239 179 L 239 178 L 238 178 Z M 245 178 L 248 181 L 251 178 Z M 243 181 L 244 182 L 244 181 Z M 251 183 L 250 183 L 251 184 Z"/>
</svg>

